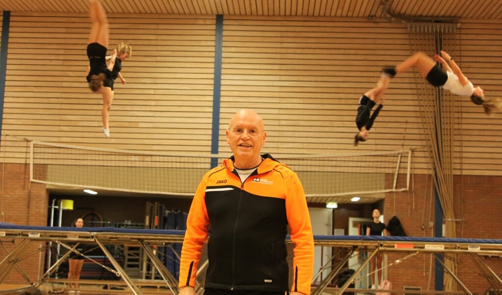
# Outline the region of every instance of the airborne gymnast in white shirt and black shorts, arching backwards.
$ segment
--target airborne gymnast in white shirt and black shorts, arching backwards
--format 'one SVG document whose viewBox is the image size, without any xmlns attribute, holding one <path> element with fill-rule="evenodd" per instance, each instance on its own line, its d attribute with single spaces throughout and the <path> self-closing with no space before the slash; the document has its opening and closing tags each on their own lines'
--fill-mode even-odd
<svg viewBox="0 0 502 295">
<path fill-rule="evenodd" d="M 443 69 L 436 62 L 441 63 Z M 441 50 L 440 55 L 434 55 L 434 59 L 423 52 L 417 52 L 396 67 L 386 67 L 383 71 L 394 77 L 396 74 L 402 73 L 413 66 L 431 85 L 440 86 L 456 95 L 470 96 L 474 104 L 483 106 L 486 114 L 502 110 L 500 99 L 486 98 L 483 89 L 479 86 L 474 87 L 462 73 L 460 67 L 444 50 Z"/>
</svg>

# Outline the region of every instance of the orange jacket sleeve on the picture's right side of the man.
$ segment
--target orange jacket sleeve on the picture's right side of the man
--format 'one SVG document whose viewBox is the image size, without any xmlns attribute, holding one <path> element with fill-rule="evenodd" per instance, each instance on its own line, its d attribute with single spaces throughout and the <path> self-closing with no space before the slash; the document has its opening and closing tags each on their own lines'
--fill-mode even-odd
<svg viewBox="0 0 502 295">
<path fill-rule="evenodd" d="M 293 249 L 292 292 L 310 294 L 314 273 L 314 236 L 303 186 L 296 173 L 286 175 L 286 214 Z"/>
</svg>

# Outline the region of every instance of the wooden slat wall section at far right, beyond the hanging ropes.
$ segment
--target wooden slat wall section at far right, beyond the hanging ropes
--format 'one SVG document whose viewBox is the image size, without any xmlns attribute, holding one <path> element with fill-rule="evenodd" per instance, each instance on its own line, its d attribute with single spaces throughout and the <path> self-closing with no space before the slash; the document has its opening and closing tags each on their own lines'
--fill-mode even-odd
<svg viewBox="0 0 502 295">
<path fill-rule="evenodd" d="M 502 24 L 463 20 L 459 28 L 458 60 L 474 86 L 486 97 L 502 97 Z M 455 174 L 502 175 L 502 114 L 485 115 L 479 106 L 462 97 L 455 127 Z"/>
</svg>

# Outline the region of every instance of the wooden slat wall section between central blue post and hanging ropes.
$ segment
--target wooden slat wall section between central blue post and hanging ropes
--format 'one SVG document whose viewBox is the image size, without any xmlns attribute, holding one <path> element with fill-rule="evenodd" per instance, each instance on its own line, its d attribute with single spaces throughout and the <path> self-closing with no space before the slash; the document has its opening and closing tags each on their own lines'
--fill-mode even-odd
<svg viewBox="0 0 502 295">
<path fill-rule="evenodd" d="M 359 97 L 375 86 L 382 67 L 409 55 L 408 44 L 406 27 L 388 22 L 227 17 L 222 123 L 236 108 L 257 108 L 267 122 L 265 150 L 275 154 L 424 145 L 412 85 L 396 79 L 370 139 L 353 146 Z M 401 55 L 396 57 L 396 52 Z"/>
</svg>

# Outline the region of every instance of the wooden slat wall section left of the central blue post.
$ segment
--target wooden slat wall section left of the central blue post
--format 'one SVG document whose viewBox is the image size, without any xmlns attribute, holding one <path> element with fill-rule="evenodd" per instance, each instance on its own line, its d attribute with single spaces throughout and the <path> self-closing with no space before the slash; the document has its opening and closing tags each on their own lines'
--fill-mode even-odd
<svg viewBox="0 0 502 295">
<path fill-rule="evenodd" d="M 128 42 L 101 131 L 100 94 L 85 80 L 90 29 L 83 14 L 11 16 L 3 131 L 141 151 L 210 152 L 214 16 L 109 15 L 110 48 Z M 109 51 L 109 53 L 111 50 Z M 189 135 L 187 135 L 189 134 Z"/>
</svg>

